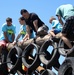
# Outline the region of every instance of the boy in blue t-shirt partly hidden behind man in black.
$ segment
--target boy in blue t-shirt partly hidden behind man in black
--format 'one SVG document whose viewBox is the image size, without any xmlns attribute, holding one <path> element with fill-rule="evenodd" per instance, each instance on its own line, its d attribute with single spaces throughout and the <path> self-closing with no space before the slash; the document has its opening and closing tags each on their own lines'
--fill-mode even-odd
<svg viewBox="0 0 74 75">
<path fill-rule="evenodd" d="M 27 37 L 25 37 L 25 35 L 26 35 L 26 22 L 25 22 L 25 18 L 24 17 L 20 17 L 19 18 L 19 23 L 20 23 L 20 25 L 21 25 L 21 27 L 20 27 L 20 32 L 19 32 L 19 34 L 17 35 L 17 37 L 16 37 L 16 41 L 18 41 L 18 39 L 22 36 L 22 40 L 23 41 L 26 41 L 27 40 Z M 31 30 L 31 28 L 30 28 L 30 30 Z M 34 38 L 34 34 L 33 34 L 33 31 L 31 30 L 31 36 L 30 36 L 30 38 Z"/>
</svg>

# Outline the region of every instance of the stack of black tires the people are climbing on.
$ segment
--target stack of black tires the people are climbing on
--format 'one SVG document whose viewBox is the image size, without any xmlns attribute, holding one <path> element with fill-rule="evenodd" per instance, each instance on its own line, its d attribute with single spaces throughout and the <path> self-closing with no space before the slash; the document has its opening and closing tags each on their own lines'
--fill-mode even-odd
<svg viewBox="0 0 74 75">
<path fill-rule="evenodd" d="M 8 74 L 3 75 L 15 73 L 18 75 L 56 75 L 52 67 L 58 75 L 74 75 L 74 49 L 69 50 L 62 40 L 58 43 L 50 39 L 45 41 L 41 47 L 36 43 L 29 44 L 24 49 L 14 46 L 7 55 Z M 62 64 L 59 63 L 60 55 L 66 57 Z M 44 68 L 42 72 L 37 70 L 39 66 Z"/>
</svg>

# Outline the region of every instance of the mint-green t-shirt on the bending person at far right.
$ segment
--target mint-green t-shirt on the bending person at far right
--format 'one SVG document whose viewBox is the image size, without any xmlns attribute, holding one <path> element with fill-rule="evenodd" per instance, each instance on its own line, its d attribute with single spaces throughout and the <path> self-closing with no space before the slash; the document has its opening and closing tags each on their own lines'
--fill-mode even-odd
<svg viewBox="0 0 74 75">
<path fill-rule="evenodd" d="M 70 16 L 74 16 L 74 6 L 71 4 L 61 5 L 56 10 L 56 15 L 60 15 L 63 19 L 67 19 Z"/>
</svg>

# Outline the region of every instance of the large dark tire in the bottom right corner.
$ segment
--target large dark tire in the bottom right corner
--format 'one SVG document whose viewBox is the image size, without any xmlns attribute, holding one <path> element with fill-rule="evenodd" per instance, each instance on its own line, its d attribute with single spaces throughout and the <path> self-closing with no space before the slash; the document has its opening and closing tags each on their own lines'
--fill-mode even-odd
<svg viewBox="0 0 74 75">
<path fill-rule="evenodd" d="M 58 75 L 74 75 L 74 57 L 68 57 L 59 68 Z"/>
</svg>

